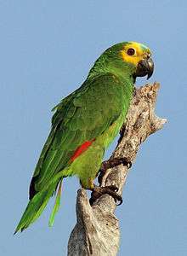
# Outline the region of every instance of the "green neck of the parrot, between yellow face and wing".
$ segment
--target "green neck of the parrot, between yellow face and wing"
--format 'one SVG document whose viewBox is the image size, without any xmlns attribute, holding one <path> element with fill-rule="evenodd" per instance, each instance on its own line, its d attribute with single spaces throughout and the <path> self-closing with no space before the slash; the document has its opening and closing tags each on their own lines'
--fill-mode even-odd
<svg viewBox="0 0 187 256">
<path fill-rule="evenodd" d="M 104 56 L 100 56 L 90 69 L 88 79 L 95 78 L 105 73 L 113 73 L 120 79 L 134 84 L 133 70 L 134 67 L 129 64 L 124 65 L 124 62 L 122 63 L 118 59 L 111 61 L 109 58 L 106 59 Z"/>
</svg>

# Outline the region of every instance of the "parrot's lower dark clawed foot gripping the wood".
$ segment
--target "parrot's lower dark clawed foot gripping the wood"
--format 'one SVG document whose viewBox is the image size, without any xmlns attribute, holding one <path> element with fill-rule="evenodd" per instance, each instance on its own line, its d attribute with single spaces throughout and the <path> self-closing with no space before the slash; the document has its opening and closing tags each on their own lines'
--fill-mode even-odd
<svg viewBox="0 0 187 256">
<path fill-rule="evenodd" d="M 94 186 L 94 189 L 91 189 L 91 190 L 92 190 L 92 194 L 89 200 L 91 206 L 93 205 L 94 201 L 99 199 L 99 197 L 104 194 L 111 195 L 115 201 L 119 201 L 117 206 L 122 205 L 122 196 L 116 193 L 118 191 L 118 188 L 115 185 L 106 186 L 106 187 Z"/>
</svg>

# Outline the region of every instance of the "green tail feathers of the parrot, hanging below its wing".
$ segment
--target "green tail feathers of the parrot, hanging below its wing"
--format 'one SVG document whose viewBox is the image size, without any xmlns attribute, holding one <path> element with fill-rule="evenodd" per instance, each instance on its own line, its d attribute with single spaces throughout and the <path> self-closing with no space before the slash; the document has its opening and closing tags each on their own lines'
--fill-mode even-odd
<svg viewBox="0 0 187 256">
<path fill-rule="evenodd" d="M 50 197 L 54 194 L 54 191 L 59 186 L 56 201 L 54 203 L 54 209 L 49 218 L 49 226 L 54 224 L 54 216 L 59 210 L 61 183 L 62 178 L 58 180 L 58 182 L 50 183 L 46 189 L 42 189 L 31 199 L 31 201 L 29 201 L 26 207 L 26 211 L 23 213 L 23 216 L 20 219 L 20 223 L 14 231 L 14 234 L 19 231 L 22 232 L 23 230 L 26 230 L 30 224 L 32 224 L 35 220 L 37 220 L 37 218 L 40 217 L 42 211 L 47 206 Z"/>
</svg>

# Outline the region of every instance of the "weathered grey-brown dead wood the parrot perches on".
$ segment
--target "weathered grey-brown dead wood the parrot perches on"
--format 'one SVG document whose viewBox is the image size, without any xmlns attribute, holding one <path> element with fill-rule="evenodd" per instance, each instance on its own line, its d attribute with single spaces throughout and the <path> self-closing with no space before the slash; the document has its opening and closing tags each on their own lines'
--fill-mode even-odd
<svg viewBox="0 0 187 256">
<path fill-rule="evenodd" d="M 150 134 L 167 122 L 155 114 L 156 95 L 160 85 L 146 84 L 135 90 L 127 120 L 122 126 L 118 145 L 111 155 L 133 162 L 139 146 Z M 101 186 L 116 185 L 122 195 L 129 165 L 110 168 L 102 178 Z M 114 256 L 119 249 L 120 228 L 114 212 L 116 203 L 110 195 L 102 195 L 91 207 L 84 189 L 77 192 L 77 224 L 68 242 L 68 256 Z"/>
</svg>

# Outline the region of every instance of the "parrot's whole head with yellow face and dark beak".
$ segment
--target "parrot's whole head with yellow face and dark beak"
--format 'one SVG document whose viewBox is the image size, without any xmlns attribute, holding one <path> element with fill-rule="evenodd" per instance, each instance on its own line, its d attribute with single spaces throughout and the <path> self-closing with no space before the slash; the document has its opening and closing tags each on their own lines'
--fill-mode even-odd
<svg viewBox="0 0 187 256">
<path fill-rule="evenodd" d="M 154 71 L 154 62 L 150 58 L 150 49 L 137 42 L 122 42 L 111 46 L 100 55 L 95 62 L 97 69 L 113 71 L 123 76 L 129 76 L 135 81 L 137 77 L 147 76 L 150 79 Z M 99 68 L 98 68 L 99 67 Z"/>
</svg>

